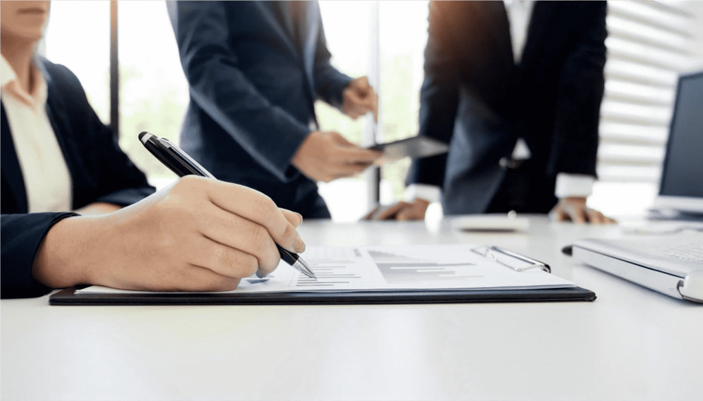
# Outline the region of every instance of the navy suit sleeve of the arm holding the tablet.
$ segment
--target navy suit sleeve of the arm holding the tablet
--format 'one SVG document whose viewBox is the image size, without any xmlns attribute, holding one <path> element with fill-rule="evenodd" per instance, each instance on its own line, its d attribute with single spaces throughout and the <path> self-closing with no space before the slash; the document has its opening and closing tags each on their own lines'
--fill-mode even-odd
<svg viewBox="0 0 703 401">
<path fill-rule="evenodd" d="M 267 100 L 228 46 L 226 1 L 167 2 L 191 98 L 280 180 L 309 128 Z M 266 135 L 261 135 L 266 133 Z M 276 146 L 271 146 L 276 143 Z"/>
</svg>

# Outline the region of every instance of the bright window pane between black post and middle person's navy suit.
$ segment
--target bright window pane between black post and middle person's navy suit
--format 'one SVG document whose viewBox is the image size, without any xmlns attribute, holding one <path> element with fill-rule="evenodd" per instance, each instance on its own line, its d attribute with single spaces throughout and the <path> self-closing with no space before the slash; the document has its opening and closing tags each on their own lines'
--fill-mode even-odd
<svg viewBox="0 0 703 401">
<path fill-rule="evenodd" d="M 188 81 L 165 1 L 118 1 L 120 147 L 160 188 L 176 179 L 139 142 L 141 131 L 179 143 Z"/>
</svg>

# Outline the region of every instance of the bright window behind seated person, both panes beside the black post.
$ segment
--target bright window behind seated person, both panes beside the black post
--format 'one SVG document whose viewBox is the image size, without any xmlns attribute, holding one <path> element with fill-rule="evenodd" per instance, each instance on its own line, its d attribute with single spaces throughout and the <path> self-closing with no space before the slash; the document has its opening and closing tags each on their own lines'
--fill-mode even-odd
<svg viewBox="0 0 703 401">
<path fill-rule="evenodd" d="M 150 131 L 178 142 L 188 84 L 165 1 L 117 2 L 120 147 L 157 187 L 175 179 L 137 139 Z M 69 67 L 110 124 L 110 1 L 53 1 L 44 39 L 49 60 Z"/>
</svg>

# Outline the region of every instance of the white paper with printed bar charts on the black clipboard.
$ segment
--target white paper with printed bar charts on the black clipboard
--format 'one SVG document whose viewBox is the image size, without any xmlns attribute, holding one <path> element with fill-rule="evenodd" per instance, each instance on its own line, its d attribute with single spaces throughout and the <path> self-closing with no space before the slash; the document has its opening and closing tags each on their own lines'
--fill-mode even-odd
<svg viewBox="0 0 703 401">
<path fill-rule="evenodd" d="M 576 284 L 540 269 L 517 271 L 481 256 L 477 245 L 309 246 L 300 256 L 311 279 L 281 262 L 264 278 L 243 279 L 229 292 L 403 291 L 408 289 L 554 289 Z M 87 287 L 78 294 L 129 294 Z"/>
</svg>

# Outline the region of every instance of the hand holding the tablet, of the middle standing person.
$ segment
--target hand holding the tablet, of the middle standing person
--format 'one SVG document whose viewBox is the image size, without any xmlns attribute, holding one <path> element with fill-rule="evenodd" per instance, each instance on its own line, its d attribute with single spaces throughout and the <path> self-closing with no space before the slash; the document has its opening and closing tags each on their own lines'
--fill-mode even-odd
<svg viewBox="0 0 703 401">
<path fill-rule="evenodd" d="M 314 131 L 300 145 L 291 163 L 311 180 L 328 183 L 356 176 L 382 155 L 354 145 L 340 133 Z"/>
</svg>

